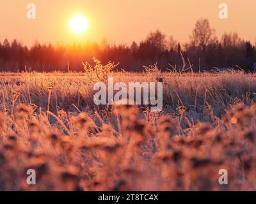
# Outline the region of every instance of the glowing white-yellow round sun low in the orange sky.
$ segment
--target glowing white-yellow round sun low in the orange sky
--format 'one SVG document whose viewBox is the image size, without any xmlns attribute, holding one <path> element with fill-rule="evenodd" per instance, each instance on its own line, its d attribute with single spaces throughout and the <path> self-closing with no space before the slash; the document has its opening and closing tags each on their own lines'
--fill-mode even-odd
<svg viewBox="0 0 256 204">
<path fill-rule="evenodd" d="M 88 21 L 83 16 L 76 15 L 71 18 L 69 27 L 74 33 L 84 33 L 88 28 Z"/>
</svg>

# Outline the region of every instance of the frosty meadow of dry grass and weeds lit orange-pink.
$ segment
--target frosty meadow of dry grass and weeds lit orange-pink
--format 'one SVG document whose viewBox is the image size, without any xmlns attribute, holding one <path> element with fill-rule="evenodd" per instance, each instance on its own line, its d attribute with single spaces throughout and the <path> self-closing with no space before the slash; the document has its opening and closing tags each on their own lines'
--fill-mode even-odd
<svg viewBox="0 0 256 204">
<path fill-rule="evenodd" d="M 0 73 L 1 191 L 256 190 L 255 73 L 150 66 L 92 76 Z M 94 105 L 93 83 L 109 76 L 163 82 L 163 110 Z"/>
</svg>

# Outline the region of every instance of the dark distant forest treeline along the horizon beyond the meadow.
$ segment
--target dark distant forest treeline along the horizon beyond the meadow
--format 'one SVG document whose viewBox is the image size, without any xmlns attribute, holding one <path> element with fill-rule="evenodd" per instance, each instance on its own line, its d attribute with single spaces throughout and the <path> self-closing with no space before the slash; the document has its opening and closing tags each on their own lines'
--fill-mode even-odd
<svg viewBox="0 0 256 204">
<path fill-rule="evenodd" d="M 190 41 L 180 45 L 172 36 L 166 36 L 157 30 L 148 34 L 140 43 L 127 45 L 109 45 L 88 42 L 84 45 L 52 46 L 35 43 L 28 48 L 14 40 L 0 43 L 0 71 L 83 71 L 82 62 L 92 62 L 96 57 L 102 63 L 120 62 L 120 68 L 126 71 L 141 71 L 143 66 L 155 64 L 163 71 L 167 69 L 193 67 L 194 71 L 212 68 L 243 68 L 253 71 L 256 62 L 256 46 L 250 41 L 239 38 L 237 33 L 224 33 L 220 39 L 211 28 L 207 19 L 201 18 L 195 24 Z"/>
</svg>

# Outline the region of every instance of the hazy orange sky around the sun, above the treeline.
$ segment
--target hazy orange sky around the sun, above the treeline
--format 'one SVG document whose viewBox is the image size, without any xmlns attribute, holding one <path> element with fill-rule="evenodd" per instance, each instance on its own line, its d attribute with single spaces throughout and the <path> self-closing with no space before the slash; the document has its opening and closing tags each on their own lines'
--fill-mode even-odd
<svg viewBox="0 0 256 204">
<path fill-rule="evenodd" d="M 36 18 L 27 18 L 27 4 L 36 6 Z M 220 19 L 220 3 L 228 5 L 228 18 Z M 17 39 L 23 45 L 108 40 L 139 43 L 159 29 L 184 43 L 189 41 L 196 20 L 208 18 L 218 37 L 236 31 L 241 38 L 256 41 L 255 0 L 0 0 L 0 41 Z M 88 30 L 75 34 L 70 18 L 83 15 Z"/>
</svg>

